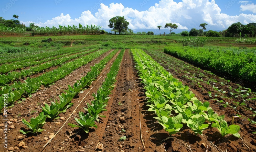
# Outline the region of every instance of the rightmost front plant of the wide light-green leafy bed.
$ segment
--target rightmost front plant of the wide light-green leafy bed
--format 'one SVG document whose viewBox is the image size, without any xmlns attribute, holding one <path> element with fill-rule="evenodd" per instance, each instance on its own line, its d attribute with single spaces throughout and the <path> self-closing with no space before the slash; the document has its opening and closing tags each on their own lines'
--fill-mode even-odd
<svg viewBox="0 0 256 152">
<path fill-rule="evenodd" d="M 220 119 L 219 121 L 215 120 L 215 123 L 212 123 L 211 126 L 217 128 L 222 137 L 227 134 L 233 134 L 235 137 L 240 138 L 240 134 L 238 133 L 240 130 L 239 125 L 228 126 L 228 123 L 225 120 Z"/>
</svg>

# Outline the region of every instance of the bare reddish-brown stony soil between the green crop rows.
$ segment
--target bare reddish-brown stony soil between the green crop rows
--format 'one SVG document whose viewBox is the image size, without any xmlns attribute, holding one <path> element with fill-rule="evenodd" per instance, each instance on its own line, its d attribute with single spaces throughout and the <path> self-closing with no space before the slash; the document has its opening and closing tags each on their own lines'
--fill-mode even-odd
<svg viewBox="0 0 256 152">
<path fill-rule="evenodd" d="M 67 89 L 67 85 L 73 85 L 76 80 L 79 80 L 81 77 L 85 76 L 86 73 L 90 70 L 90 66 L 98 63 L 106 55 L 110 53 L 107 52 L 103 54 L 98 59 L 93 60 L 85 66 L 82 66 L 75 70 L 70 75 L 66 76 L 64 79 L 58 80 L 54 85 L 50 87 L 41 87 L 41 89 L 35 93 L 31 98 L 27 98 L 26 101 L 15 104 L 15 106 L 9 109 L 8 112 L 8 148 L 9 147 L 18 147 L 20 142 L 24 142 L 27 148 L 19 148 L 17 150 L 9 151 L 218 151 L 213 145 L 216 145 L 222 151 L 255 151 L 256 150 L 256 136 L 252 134 L 255 131 L 256 126 L 250 124 L 246 119 L 249 115 L 253 114 L 251 111 L 246 111 L 242 107 L 238 107 L 237 110 L 242 115 L 240 118 L 234 119 L 234 124 L 240 125 L 241 130 L 239 131 L 241 137 L 244 139 L 238 139 L 233 137 L 233 135 L 227 135 L 225 138 L 221 138 L 218 130 L 216 128 L 208 128 L 203 132 L 203 136 L 195 136 L 194 133 L 189 130 L 187 127 L 184 127 L 180 132 L 175 134 L 173 138 L 162 142 L 162 140 L 169 137 L 169 134 L 163 130 L 163 127 L 153 118 L 151 112 L 148 112 L 148 106 L 146 106 L 146 99 L 144 95 L 143 86 L 140 84 L 140 79 L 138 79 L 137 71 L 134 68 L 134 63 L 131 60 L 129 50 L 125 51 L 120 70 L 116 76 L 117 82 L 115 83 L 115 88 L 111 91 L 110 99 L 108 106 L 106 107 L 107 111 L 104 111 L 102 115 L 105 115 L 106 118 L 100 118 L 99 122 L 96 122 L 98 128 L 92 128 L 89 134 L 84 133 L 82 130 L 77 127 L 71 128 L 68 123 L 76 124 L 74 120 L 75 117 L 78 118 L 78 112 L 85 110 L 83 107 L 86 107 L 86 103 L 90 103 L 93 100 L 91 96 L 92 93 L 97 92 L 97 89 L 101 87 L 106 73 L 109 72 L 109 67 L 114 61 L 118 53 L 106 64 L 105 68 L 102 70 L 97 80 L 95 80 L 90 87 L 79 94 L 79 97 L 74 98 L 72 103 L 74 105 L 70 107 L 66 113 L 61 113 L 60 117 L 62 119 L 57 119 L 53 121 L 48 121 L 43 126 L 45 131 L 25 136 L 19 133 L 25 125 L 20 121 L 22 118 L 29 120 L 32 117 L 36 117 L 39 112 L 41 112 L 42 103 L 50 104 L 53 99 L 58 99 L 58 95 Z M 151 54 L 152 55 L 152 54 Z M 209 97 L 208 91 L 212 92 L 212 96 L 217 94 L 218 96 L 223 96 L 221 100 L 224 102 L 232 101 L 241 101 L 242 99 L 234 99 L 228 97 L 227 93 L 220 93 L 217 90 L 212 88 L 212 84 L 209 86 L 206 83 L 200 82 L 201 86 L 204 88 L 202 90 L 197 86 L 196 83 L 192 83 L 192 80 L 186 77 L 183 77 L 184 71 L 190 72 L 186 73 L 188 76 L 192 76 L 198 73 L 198 71 L 191 69 L 182 69 L 176 68 L 173 70 L 173 66 L 169 66 L 167 63 L 162 62 L 161 58 L 154 56 L 154 59 L 159 63 L 162 63 L 165 68 L 173 73 L 174 77 L 179 78 L 183 84 L 186 84 L 190 87 L 191 91 L 196 94 L 197 98 L 202 101 L 209 101 L 212 109 L 218 114 L 225 114 L 225 120 L 230 123 L 232 116 L 236 116 L 237 111 L 230 107 L 224 108 L 216 100 Z M 187 63 L 185 63 L 187 64 Z M 177 64 L 175 66 L 182 67 L 182 64 Z M 188 64 L 189 65 L 189 64 Z M 191 66 L 191 65 L 190 65 Z M 198 69 L 198 68 L 197 68 Z M 201 71 L 204 72 L 204 71 Z M 212 75 L 205 74 L 208 79 L 216 79 L 218 82 L 225 82 L 221 78 Z M 203 79 L 207 79 L 203 77 Z M 216 87 L 226 89 L 229 86 L 233 88 L 238 88 L 236 84 L 231 82 L 226 85 L 214 84 Z M 90 92 L 89 92 L 90 91 Z M 232 91 L 232 90 L 231 90 Z M 89 93 L 88 93 L 89 92 Z M 86 96 L 86 94 L 88 95 Z M 86 97 L 85 97 L 86 96 Z M 85 98 L 84 98 L 85 97 Z M 249 96 L 250 97 L 250 96 Z M 84 100 L 83 100 L 84 98 Z M 80 106 L 72 114 L 71 118 L 63 126 L 60 132 L 52 139 L 52 141 L 43 149 L 43 146 L 48 142 L 47 139 L 50 136 L 50 133 L 57 133 L 60 127 L 65 123 L 70 114 L 75 110 L 75 108 Z M 250 106 L 255 109 L 254 103 L 249 103 Z M 139 108 L 140 107 L 140 108 Z M 141 110 L 141 111 L 140 111 Z M 122 117 L 123 116 L 123 117 Z M 141 116 L 141 120 L 140 120 Z M 4 138 L 4 118 L 0 121 L 0 131 L 1 139 Z M 121 117 L 121 118 L 120 118 Z M 251 117 L 250 117 L 251 118 Z M 14 120 L 11 120 L 14 119 Z M 17 119 L 17 120 L 15 120 Z M 141 125 L 140 125 L 141 124 Z M 120 126 L 119 126 L 120 125 Z M 141 126 L 141 130 L 140 130 Z M 125 130 L 125 132 L 122 131 Z M 140 133 L 142 133 L 142 139 L 144 145 L 141 141 Z M 21 136 L 21 137 L 19 137 Z M 126 136 L 127 139 L 124 141 L 119 141 L 121 136 Z M 19 138 L 18 138 L 19 137 Z M 47 137 L 47 138 L 45 138 Z M 45 140 L 44 140 L 45 138 Z M 2 140 L 3 141 L 3 140 Z M 102 144 L 102 145 L 101 145 Z M 102 146 L 101 148 L 96 148 Z M 248 147 L 250 149 L 248 149 Z M 0 148 L 0 151 L 8 151 L 8 149 Z"/>
</svg>

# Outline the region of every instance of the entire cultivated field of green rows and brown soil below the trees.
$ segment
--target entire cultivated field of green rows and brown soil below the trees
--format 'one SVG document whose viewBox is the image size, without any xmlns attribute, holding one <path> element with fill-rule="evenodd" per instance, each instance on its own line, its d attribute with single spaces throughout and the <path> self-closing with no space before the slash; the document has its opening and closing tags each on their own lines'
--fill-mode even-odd
<svg viewBox="0 0 256 152">
<path fill-rule="evenodd" d="M 256 45 L 182 39 L 1 37 L 0 151 L 256 151 Z"/>
</svg>

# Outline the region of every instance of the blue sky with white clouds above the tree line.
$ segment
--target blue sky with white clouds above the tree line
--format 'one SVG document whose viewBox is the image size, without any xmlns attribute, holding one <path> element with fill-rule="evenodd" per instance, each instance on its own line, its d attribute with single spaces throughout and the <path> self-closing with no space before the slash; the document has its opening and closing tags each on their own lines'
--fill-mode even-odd
<svg viewBox="0 0 256 152">
<path fill-rule="evenodd" d="M 221 30 L 238 21 L 256 22 L 256 3 L 253 2 L 255 0 L 1 0 L 0 16 L 12 19 L 16 14 L 26 26 L 35 22 L 40 27 L 81 23 L 108 28 L 110 18 L 125 16 L 131 29 L 151 29 L 169 22 L 177 24 L 178 29 L 191 29 L 206 22 L 208 29 Z"/>
</svg>

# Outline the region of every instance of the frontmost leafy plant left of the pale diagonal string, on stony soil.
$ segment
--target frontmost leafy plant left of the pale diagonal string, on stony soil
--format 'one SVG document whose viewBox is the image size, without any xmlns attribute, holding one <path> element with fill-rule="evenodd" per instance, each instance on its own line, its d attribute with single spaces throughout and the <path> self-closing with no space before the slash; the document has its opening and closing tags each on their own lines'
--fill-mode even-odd
<svg viewBox="0 0 256 152">
<path fill-rule="evenodd" d="M 36 118 L 31 118 L 30 123 L 27 122 L 25 119 L 22 119 L 22 123 L 25 124 L 31 131 L 24 132 L 23 130 L 20 130 L 19 132 L 23 134 L 28 133 L 38 133 L 44 131 L 44 129 L 41 129 L 42 126 L 46 123 L 46 115 L 44 115 L 43 112 L 41 112 Z"/>
</svg>

